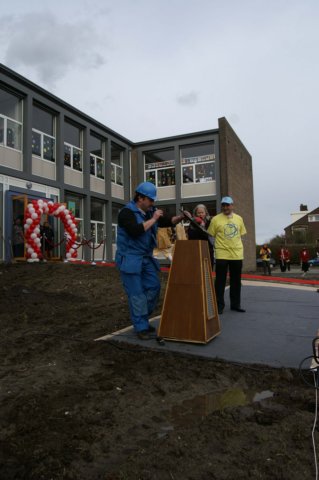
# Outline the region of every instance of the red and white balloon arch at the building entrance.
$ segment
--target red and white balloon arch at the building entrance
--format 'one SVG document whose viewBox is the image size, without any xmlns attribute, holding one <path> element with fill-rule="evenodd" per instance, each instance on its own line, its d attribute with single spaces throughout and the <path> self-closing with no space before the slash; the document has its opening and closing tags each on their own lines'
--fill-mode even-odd
<svg viewBox="0 0 319 480">
<path fill-rule="evenodd" d="M 66 232 L 66 258 L 77 258 L 77 221 L 70 210 L 61 203 L 46 200 L 32 200 L 24 213 L 24 237 L 28 262 L 38 262 L 42 258 L 40 221 L 41 215 L 48 214 L 59 218 Z"/>
</svg>

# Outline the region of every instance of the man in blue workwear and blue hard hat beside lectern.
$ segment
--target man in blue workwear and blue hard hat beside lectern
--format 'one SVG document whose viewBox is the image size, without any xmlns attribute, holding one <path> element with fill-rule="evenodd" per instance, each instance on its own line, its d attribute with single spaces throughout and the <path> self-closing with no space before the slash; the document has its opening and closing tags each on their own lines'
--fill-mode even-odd
<svg viewBox="0 0 319 480">
<path fill-rule="evenodd" d="M 155 328 L 149 316 L 156 307 L 161 289 L 159 262 L 153 257 L 158 227 L 171 227 L 184 215 L 167 217 L 154 207 L 157 190 L 142 182 L 119 213 L 115 262 L 128 296 L 131 320 L 141 340 L 148 340 Z"/>
</svg>

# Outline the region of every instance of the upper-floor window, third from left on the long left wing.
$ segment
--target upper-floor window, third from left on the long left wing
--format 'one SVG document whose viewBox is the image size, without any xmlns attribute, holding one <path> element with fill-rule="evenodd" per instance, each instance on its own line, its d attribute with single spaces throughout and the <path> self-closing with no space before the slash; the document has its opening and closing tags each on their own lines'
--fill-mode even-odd
<svg viewBox="0 0 319 480">
<path fill-rule="evenodd" d="M 64 165 L 82 172 L 82 129 L 76 125 L 64 123 Z"/>
</svg>

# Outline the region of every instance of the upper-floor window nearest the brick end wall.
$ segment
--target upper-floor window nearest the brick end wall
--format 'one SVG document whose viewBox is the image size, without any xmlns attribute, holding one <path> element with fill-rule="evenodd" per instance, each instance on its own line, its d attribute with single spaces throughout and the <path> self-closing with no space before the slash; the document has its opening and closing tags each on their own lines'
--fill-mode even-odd
<svg viewBox="0 0 319 480">
<path fill-rule="evenodd" d="M 207 183 L 215 180 L 213 142 L 182 147 L 180 155 L 183 184 Z"/>
</svg>

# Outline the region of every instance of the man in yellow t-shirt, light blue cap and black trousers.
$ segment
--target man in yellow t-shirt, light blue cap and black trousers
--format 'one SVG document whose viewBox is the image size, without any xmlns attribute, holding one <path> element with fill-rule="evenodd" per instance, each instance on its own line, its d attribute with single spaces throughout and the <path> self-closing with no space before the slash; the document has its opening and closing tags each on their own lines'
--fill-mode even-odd
<svg viewBox="0 0 319 480">
<path fill-rule="evenodd" d="M 245 312 L 241 307 L 241 270 L 244 247 L 241 237 L 246 228 L 242 217 L 233 212 L 234 202 L 231 197 L 221 200 L 222 212 L 211 221 L 208 232 L 215 237 L 216 280 L 215 291 L 218 313 L 225 308 L 225 286 L 227 272 L 230 280 L 230 308 L 236 312 Z"/>
</svg>

